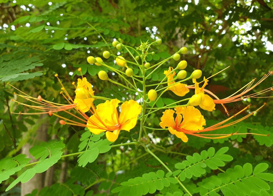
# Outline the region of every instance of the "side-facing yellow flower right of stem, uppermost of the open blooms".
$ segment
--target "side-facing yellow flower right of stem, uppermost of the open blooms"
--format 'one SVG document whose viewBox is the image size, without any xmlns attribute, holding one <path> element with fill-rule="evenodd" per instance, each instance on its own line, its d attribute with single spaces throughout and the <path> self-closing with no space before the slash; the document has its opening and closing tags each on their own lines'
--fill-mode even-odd
<svg viewBox="0 0 273 196">
<path fill-rule="evenodd" d="M 177 83 L 174 84 L 175 81 L 171 81 L 174 79 L 175 76 L 175 72 L 169 74 L 171 72 L 171 67 L 169 67 L 169 70 L 164 71 L 164 74 L 167 76 L 167 81 L 168 81 L 168 90 L 171 90 L 174 94 L 176 94 L 177 96 L 184 96 L 185 94 L 187 94 L 190 90 L 186 87 L 186 84 L 182 84 L 182 83 Z M 169 82 L 171 81 L 171 82 Z M 174 85 L 172 85 L 174 84 Z M 172 85 L 172 86 L 170 86 Z"/>
</svg>

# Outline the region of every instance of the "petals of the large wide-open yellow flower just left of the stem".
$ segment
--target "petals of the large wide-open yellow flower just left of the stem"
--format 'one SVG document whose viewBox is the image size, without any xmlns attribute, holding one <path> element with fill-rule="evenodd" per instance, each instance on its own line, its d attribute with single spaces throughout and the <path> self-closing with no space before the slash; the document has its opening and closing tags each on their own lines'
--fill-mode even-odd
<svg viewBox="0 0 273 196">
<path fill-rule="evenodd" d="M 137 116 L 141 113 L 141 106 L 134 100 L 121 104 L 121 113 L 118 114 L 118 99 L 106 101 L 97 106 L 97 109 L 87 122 L 88 129 L 99 134 L 106 131 L 109 141 L 117 140 L 121 130 L 130 131 L 136 126 Z"/>
</svg>

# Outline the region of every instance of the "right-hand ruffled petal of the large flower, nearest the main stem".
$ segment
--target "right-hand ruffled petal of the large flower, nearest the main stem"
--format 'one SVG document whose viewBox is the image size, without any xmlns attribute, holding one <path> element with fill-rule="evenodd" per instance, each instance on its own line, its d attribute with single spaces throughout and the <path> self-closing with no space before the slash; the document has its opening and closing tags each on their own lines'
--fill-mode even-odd
<svg viewBox="0 0 273 196">
<path fill-rule="evenodd" d="M 130 131 L 136 126 L 138 115 L 141 113 L 141 106 L 134 100 L 129 100 L 121 105 L 119 123 L 121 130 Z"/>
</svg>

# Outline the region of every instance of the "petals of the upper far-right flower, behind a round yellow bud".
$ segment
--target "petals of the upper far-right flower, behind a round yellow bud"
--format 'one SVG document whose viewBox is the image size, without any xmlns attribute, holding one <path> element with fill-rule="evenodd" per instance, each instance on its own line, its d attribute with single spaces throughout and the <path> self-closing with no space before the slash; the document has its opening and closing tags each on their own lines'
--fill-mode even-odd
<svg viewBox="0 0 273 196">
<path fill-rule="evenodd" d="M 201 88 L 199 88 L 199 83 L 196 81 L 196 79 L 192 79 L 195 87 L 195 94 L 200 94 L 202 97 L 202 102 L 199 104 L 200 108 L 212 112 L 215 110 L 215 103 L 209 95 L 204 93 L 204 88 L 208 84 L 208 81 L 209 80 L 204 77 L 204 84 Z"/>
</svg>

